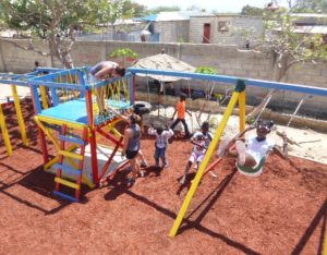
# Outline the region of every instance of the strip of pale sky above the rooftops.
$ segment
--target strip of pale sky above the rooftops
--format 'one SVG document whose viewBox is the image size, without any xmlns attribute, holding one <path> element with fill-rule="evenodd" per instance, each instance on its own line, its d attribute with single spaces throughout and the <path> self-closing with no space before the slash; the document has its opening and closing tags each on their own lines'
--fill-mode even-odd
<svg viewBox="0 0 327 255">
<path fill-rule="evenodd" d="M 216 10 L 218 12 L 240 12 L 246 4 L 264 8 L 269 0 L 134 0 L 137 3 L 146 5 L 148 9 L 156 7 L 175 7 L 179 5 L 182 10 L 186 10 L 192 5 L 197 5 L 207 11 Z M 280 2 L 280 1 L 279 1 Z"/>
</svg>

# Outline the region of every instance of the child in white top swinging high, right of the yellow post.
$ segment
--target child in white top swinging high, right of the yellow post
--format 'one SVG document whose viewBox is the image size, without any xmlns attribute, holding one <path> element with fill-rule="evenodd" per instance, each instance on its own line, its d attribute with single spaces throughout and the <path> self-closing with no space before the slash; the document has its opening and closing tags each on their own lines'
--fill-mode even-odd
<svg viewBox="0 0 327 255">
<path fill-rule="evenodd" d="M 230 147 L 228 150 L 231 156 L 237 158 L 237 167 L 240 173 L 250 177 L 259 175 L 270 150 L 274 150 L 282 158 L 288 158 L 288 139 L 286 133 L 282 134 L 282 150 L 275 145 L 274 141 L 267 137 L 272 126 L 272 121 L 259 120 L 256 125 L 246 127 L 244 132 L 237 136 L 242 137 L 246 132 L 256 129 L 256 135 L 251 135 L 246 139 L 237 139 L 235 146 Z"/>
</svg>

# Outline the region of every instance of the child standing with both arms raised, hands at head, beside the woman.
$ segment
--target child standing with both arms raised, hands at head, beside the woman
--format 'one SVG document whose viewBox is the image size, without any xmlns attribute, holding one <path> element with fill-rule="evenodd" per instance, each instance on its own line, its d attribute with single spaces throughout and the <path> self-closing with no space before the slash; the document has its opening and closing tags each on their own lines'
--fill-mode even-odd
<svg viewBox="0 0 327 255">
<path fill-rule="evenodd" d="M 156 135 L 157 139 L 155 143 L 155 160 L 156 160 L 156 168 L 159 168 L 159 158 L 162 161 L 162 168 L 168 167 L 168 161 L 166 158 L 166 149 L 168 145 L 168 139 L 173 135 L 173 131 L 169 129 L 168 131 L 164 131 L 162 126 L 158 126 L 157 129 L 149 127 L 148 130 L 149 135 Z"/>
</svg>

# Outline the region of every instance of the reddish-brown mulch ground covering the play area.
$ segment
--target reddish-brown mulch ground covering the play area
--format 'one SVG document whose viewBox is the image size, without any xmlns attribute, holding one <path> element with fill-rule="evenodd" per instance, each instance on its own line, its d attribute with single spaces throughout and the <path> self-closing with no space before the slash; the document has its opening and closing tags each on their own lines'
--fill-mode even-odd
<svg viewBox="0 0 327 255">
<path fill-rule="evenodd" d="M 192 145 L 173 141 L 170 167 L 147 169 L 126 189 L 123 174 L 102 190 L 84 187 L 83 203 L 52 197 L 41 170 L 32 107 L 24 105 L 31 147 L 23 147 L 13 109 L 5 108 L 13 157 L 0 144 L 0 254 L 319 254 L 327 218 L 327 166 L 276 155 L 259 178 L 226 159 L 199 185 L 179 234 L 168 232 L 186 190 L 182 174 Z M 153 162 L 154 141 L 142 144 Z"/>
</svg>

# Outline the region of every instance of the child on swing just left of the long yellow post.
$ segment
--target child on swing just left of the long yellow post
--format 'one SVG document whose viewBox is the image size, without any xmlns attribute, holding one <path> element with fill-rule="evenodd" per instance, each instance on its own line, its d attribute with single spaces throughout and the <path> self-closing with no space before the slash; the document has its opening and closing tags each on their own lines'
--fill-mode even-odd
<svg viewBox="0 0 327 255">
<path fill-rule="evenodd" d="M 209 123 L 207 121 L 202 123 L 201 132 L 195 132 L 193 137 L 191 138 L 191 143 L 194 144 L 194 148 L 192 150 L 192 155 L 189 159 L 189 162 L 185 168 L 185 172 L 180 180 L 181 184 L 184 184 L 186 181 L 186 175 L 193 165 L 196 162 L 196 169 L 198 169 L 204 156 L 206 155 L 207 148 L 213 139 L 213 135 L 209 133 Z"/>
</svg>

